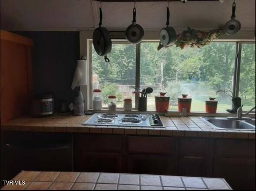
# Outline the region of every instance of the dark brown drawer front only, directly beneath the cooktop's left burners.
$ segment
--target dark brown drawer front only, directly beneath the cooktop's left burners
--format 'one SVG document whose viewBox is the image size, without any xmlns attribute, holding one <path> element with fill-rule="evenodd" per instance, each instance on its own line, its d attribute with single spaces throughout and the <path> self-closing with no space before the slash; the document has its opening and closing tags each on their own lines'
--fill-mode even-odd
<svg viewBox="0 0 256 191">
<path fill-rule="evenodd" d="M 79 152 L 120 152 L 122 149 L 122 136 L 120 135 L 86 135 L 74 136 L 75 149 Z"/>
</svg>

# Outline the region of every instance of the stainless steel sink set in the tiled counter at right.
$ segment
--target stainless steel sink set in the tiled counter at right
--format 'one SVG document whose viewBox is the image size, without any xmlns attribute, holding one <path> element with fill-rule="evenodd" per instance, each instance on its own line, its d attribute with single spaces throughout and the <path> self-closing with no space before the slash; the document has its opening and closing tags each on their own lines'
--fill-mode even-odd
<svg viewBox="0 0 256 191">
<path fill-rule="evenodd" d="M 215 129 L 255 131 L 255 120 L 229 120 L 226 117 L 201 117 Z M 253 124 L 254 121 L 254 124 Z"/>
</svg>

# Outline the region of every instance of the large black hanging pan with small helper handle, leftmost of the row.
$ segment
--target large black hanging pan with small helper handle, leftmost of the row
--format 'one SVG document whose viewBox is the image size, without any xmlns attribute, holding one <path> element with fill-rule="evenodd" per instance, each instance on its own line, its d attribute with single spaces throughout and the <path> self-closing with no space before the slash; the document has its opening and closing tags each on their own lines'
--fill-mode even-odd
<svg viewBox="0 0 256 191">
<path fill-rule="evenodd" d="M 93 47 L 96 53 L 104 56 L 105 62 L 110 62 L 107 54 L 111 52 L 112 42 L 110 32 L 105 27 L 102 27 L 102 11 L 100 8 L 100 23 L 99 27 L 93 31 Z"/>
</svg>

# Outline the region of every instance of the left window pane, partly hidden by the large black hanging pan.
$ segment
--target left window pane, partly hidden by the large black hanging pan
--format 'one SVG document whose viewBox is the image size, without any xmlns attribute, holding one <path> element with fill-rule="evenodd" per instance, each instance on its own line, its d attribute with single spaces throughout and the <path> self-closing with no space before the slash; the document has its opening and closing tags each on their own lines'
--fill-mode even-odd
<svg viewBox="0 0 256 191">
<path fill-rule="evenodd" d="M 132 98 L 135 108 L 136 45 L 128 42 L 112 42 L 112 51 L 106 63 L 92 49 L 92 90 L 101 89 L 103 108 L 107 108 L 107 97 L 116 95 L 116 107 L 123 108 L 123 99 Z"/>
</svg>

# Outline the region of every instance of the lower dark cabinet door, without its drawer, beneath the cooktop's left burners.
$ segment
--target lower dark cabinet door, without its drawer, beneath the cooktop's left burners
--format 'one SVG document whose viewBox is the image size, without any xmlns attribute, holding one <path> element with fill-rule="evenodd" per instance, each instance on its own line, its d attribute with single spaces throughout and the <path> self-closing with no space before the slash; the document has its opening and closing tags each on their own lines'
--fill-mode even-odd
<svg viewBox="0 0 256 191">
<path fill-rule="evenodd" d="M 75 171 L 121 172 L 121 155 L 117 153 L 81 152 L 75 155 Z"/>
</svg>

